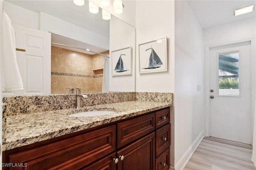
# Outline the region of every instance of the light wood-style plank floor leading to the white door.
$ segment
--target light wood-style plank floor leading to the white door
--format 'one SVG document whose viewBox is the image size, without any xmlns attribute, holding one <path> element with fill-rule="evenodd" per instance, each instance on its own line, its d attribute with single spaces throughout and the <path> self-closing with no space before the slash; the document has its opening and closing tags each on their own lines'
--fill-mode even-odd
<svg viewBox="0 0 256 170">
<path fill-rule="evenodd" d="M 184 170 L 255 170 L 252 146 L 204 137 Z"/>
</svg>

